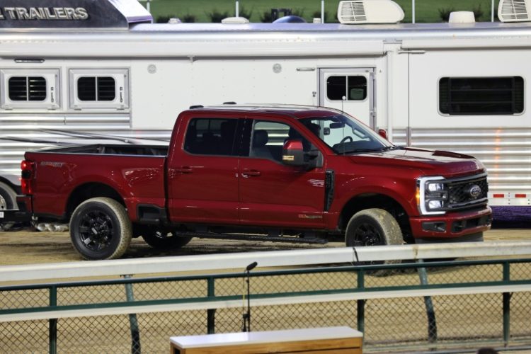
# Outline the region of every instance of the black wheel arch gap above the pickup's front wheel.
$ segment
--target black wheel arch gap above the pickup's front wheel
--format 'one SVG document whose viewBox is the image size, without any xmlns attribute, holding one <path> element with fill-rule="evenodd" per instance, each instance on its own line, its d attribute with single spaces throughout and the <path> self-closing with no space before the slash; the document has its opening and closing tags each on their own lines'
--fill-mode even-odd
<svg viewBox="0 0 531 354">
<path fill-rule="evenodd" d="M 355 215 L 356 212 L 371 208 L 383 209 L 389 212 L 396 219 L 396 222 L 398 222 L 401 232 L 404 235 L 404 241 L 408 243 L 413 242 L 409 215 L 406 209 L 396 199 L 383 193 L 362 193 L 350 198 L 341 209 L 338 218 L 338 229 L 341 232 L 345 232 L 350 217 Z"/>
</svg>

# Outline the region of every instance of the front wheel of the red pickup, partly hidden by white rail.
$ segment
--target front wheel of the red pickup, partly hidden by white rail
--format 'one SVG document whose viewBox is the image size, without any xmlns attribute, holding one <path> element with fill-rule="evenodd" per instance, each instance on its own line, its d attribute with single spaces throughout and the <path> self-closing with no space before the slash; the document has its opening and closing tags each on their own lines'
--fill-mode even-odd
<svg viewBox="0 0 531 354">
<path fill-rule="evenodd" d="M 404 244 L 396 219 L 383 209 L 366 209 L 355 213 L 345 232 L 346 246 L 378 246 Z M 370 262 L 393 264 L 399 261 Z"/>
</svg>

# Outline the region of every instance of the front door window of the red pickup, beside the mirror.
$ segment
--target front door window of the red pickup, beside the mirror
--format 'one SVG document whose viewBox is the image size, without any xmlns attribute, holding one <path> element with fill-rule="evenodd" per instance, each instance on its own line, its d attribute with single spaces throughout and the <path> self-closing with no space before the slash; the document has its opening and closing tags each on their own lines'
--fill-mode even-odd
<svg viewBox="0 0 531 354">
<path fill-rule="evenodd" d="M 301 139 L 305 150 L 311 145 L 295 128 L 267 120 L 253 121 L 249 156 L 282 162 L 282 147 L 287 139 Z"/>
</svg>

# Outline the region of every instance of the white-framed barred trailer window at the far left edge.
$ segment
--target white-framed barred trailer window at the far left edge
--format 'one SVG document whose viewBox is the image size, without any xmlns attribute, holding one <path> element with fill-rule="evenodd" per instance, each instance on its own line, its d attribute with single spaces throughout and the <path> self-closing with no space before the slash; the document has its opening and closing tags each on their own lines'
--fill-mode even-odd
<svg viewBox="0 0 531 354">
<path fill-rule="evenodd" d="M 59 108 L 58 69 L 0 69 L 1 108 Z"/>
</svg>

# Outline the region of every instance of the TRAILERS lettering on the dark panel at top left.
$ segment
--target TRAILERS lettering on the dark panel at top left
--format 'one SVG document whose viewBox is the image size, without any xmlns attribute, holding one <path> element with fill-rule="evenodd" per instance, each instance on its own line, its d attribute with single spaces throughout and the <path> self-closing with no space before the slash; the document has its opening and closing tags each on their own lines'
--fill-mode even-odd
<svg viewBox="0 0 531 354">
<path fill-rule="evenodd" d="M 87 20 L 89 12 L 82 7 L 4 7 L 0 8 L 0 21 L 32 21 L 32 20 Z"/>
</svg>

